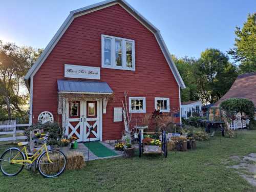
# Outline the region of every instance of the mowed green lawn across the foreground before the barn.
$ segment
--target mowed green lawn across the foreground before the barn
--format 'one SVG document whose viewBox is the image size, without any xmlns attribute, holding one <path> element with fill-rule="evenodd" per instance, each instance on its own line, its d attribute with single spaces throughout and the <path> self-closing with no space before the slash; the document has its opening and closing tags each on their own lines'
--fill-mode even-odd
<svg viewBox="0 0 256 192">
<path fill-rule="evenodd" d="M 81 170 L 66 171 L 60 177 L 44 179 L 23 170 L 16 177 L 0 175 L 0 191 L 256 191 L 241 178 L 231 155 L 256 153 L 256 131 L 244 131 L 237 138 L 198 142 L 197 150 L 170 152 L 167 159 L 138 156 L 90 161 Z M 10 145 L 0 145 L 0 154 Z"/>
</svg>

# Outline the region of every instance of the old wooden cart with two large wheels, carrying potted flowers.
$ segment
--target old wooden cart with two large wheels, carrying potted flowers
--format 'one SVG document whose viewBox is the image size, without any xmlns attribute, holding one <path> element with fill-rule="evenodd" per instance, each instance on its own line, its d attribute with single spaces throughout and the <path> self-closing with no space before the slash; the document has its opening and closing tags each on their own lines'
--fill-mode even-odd
<svg viewBox="0 0 256 192">
<path fill-rule="evenodd" d="M 141 157 L 142 154 L 159 154 L 163 155 L 165 158 L 167 157 L 167 139 L 165 131 L 162 131 L 161 133 L 157 132 L 144 132 L 144 134 L 161 134 L 161 147 L 156 145 L 144 145 L 142 143 L 142 133 L 139 132 L 139 157 Z"/>
</svg>

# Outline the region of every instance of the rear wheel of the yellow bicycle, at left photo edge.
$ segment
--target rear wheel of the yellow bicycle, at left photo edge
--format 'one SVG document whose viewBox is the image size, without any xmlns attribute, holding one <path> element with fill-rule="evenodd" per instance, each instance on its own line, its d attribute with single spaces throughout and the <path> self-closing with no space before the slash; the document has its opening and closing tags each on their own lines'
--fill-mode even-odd
<svg viewBox="0 0 256 192">
<path fill-rule="evenodd" d="M 0 158 L 0 168 L 6 176 L 18 175 L 24 167 L 24 164 L 11 163 L 14 157 L 15 160 L 25 160 L 24 154 L 18 148 L 8 148 Z"/>
</svg>

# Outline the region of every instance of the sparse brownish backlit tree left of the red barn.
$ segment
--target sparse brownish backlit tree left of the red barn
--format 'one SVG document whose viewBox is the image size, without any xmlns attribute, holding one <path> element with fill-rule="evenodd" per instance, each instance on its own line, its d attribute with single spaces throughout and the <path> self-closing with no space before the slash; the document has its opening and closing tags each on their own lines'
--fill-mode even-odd
<svg viewBox="0 0 256 192">
<path fill-rule="evenodd" d="M 11 118 L 12 111 L 24 113 L 23 106 L 29 96 L 23 78 L 41 52 L 41 49 L 18 47 L 10 42 L 3 44 L 0 40 L 0 101 L 8 118 Z M 25 93 L 20 93 L 21 89 Z"/>
</svg>

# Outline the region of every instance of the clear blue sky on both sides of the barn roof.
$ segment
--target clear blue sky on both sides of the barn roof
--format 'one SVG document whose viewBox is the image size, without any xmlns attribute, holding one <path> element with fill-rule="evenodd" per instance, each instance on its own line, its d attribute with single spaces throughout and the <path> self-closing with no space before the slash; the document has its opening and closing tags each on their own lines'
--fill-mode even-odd
<svg viewBox="0 0 256 192">
<path fill-rule="evenodd" d="M 228 51 L 256 0 L 126 0 L 161 32 L 171 54 L 200 57 L 206 48 Z M 69 12 L 98 0 L 0 0 L 0 40 L 45 48 Z"/>
</svg>

